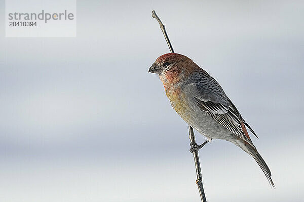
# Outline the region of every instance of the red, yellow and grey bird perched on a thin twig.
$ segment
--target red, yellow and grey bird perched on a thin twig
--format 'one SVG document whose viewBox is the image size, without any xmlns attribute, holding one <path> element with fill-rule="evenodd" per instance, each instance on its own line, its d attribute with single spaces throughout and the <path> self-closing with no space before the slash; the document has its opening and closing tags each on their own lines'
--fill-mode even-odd
<svg viewBox="0 0 304 202">
<path fill-rule="evenodd" d="M 188 57 L 177 53 L 158 57 L 148 72 L 159 76 L 173 109 L 189 126 L 204 135 L 206 142 L 221 139 L 234 143 L 253 157 L 275 188 L 271 171 L 246 127 L 257 135 L 210 74 Z"/>
</svg>

